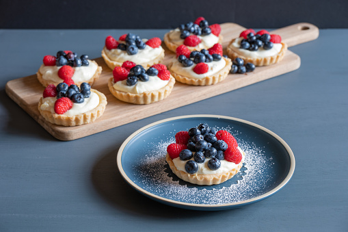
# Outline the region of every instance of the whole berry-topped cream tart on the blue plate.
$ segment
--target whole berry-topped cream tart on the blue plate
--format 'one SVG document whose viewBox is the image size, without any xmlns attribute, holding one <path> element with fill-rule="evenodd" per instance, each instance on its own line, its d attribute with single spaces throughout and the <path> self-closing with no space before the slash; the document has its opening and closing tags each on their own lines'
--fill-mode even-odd
<svg viewBox="0 0 348 232">
<path fill-rule="evenodd" d="M 167 147 L 165 160 L 176 176 L 197 185 L 217 185 L 236 175 L 245 159 L 237 140 L 224 130 L 200 124 L 179 131 Z"/>
</svg>

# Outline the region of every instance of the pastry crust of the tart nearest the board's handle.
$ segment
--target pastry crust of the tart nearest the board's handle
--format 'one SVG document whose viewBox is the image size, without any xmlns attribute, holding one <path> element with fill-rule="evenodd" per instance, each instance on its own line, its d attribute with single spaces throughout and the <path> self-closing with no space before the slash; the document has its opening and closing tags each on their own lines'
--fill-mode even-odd
<svg viewBox="0 0 348 232">
<path fill-rule="evenodd" d="M 282 49 L 280 49 L 280 52 L 276 55 L 271 55 L 269 57 L 246 57 L 239 53 L 239 50 L 237 47 L 233 46 L 232 43 L 235 42 L 236 39 L 233 39 L 230 44 L 228 44 L 227 47 L 227 55 L 230 57 L 232 60 L 235 60 L 235 58 L 239 57 L 244 60 L 245 63 L 252 63 L 255 66 L 267 66 L 271 64 L 276 64 L 280 62 L 284 55 L 286 50 L 288 50 L 288 45 L 284 42 L 281 42 L 282 44 Z"/>
</svg>

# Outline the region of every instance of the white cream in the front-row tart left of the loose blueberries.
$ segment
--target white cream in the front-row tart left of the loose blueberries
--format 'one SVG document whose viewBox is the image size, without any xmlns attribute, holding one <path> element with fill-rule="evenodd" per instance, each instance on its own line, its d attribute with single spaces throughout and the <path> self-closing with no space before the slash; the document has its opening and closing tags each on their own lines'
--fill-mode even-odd
<svg viewBox="0 0 348 232">
<path fill-rule="evenodd" d="M 193 64 L 192 66 L 185 67 L 176 59 L 173 60 L 172 63 L 173 65 L 170 68 L 170 70 L 172 70 L 174 73 L 185 76 L 185 77 L 194 78 L 194 79 L 202 79 L 204 77 L 214 75 L 215 73 L 218 73 L 220 70 L 222 70 L 222 68 L 226 66 L 226 61 L 222 58 L 219 61 L 204 63 L 204 64 L 208 64 L 209 66 L 208 72 L 203 74 L 197 74 L 193 72 L 193 68 L 196 67 L 197 64 Z"/>
</svg>

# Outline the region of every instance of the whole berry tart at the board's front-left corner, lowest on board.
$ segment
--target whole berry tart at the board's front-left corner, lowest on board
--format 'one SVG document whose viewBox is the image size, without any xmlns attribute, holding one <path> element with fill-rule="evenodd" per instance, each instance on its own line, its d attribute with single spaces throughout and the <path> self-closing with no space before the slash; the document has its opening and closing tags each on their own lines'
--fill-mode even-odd
<svg viewBox="0 0 348 232">
<path fill-rule="evenodd" d="M 47 86 L 38 103 L 42 117 L 62 126 L 78 126 L 94 122 L 107 105 L 105 95 L 91 89 L 86 82 L 80 88 L 74 84 L 59 83 Z"/>
</svg>

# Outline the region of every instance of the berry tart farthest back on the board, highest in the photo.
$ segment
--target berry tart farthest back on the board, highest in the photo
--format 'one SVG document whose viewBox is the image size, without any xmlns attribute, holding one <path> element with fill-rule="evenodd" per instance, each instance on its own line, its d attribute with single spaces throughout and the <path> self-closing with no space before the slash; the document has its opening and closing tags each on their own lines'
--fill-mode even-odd
<svg viewBox="0 0 348 232">
<path fill-rule="evenodd" d="M 209 25 L 205 18 L 198 17 L 194 23 L 180 24 L 178 28 L 165 34 L 164 42 L 170 51 L 175 52 L 182 44 L 190 51 L 200 51 L 209 49 L 216 43 L 222 43 L 220 32 L 219 24 Z"/>
</svg>

